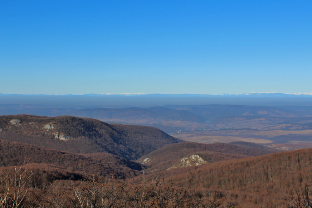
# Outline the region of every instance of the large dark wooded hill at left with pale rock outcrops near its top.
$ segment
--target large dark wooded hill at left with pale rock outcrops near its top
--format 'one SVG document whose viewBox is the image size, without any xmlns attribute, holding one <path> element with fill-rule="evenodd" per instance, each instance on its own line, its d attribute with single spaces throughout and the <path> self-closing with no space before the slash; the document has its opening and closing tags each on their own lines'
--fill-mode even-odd
<svg viewBox="0 0 312 208">
<path fill-rule="evenodd" d="M 138 159 L 167 144 L 182 142 L 149 126 L 108 124 L 73 116 L 0 116 L 0 139 L 74 153 L 107 152 Z"/>
</svg>

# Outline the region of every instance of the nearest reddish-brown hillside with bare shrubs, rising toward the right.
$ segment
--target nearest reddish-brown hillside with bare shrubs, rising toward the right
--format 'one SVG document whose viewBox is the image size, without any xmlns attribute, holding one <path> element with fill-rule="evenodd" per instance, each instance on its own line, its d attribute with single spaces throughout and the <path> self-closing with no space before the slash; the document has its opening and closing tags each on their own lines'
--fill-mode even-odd
<svg viewBox="0 0 312 208">
<path fill-rule="evenodd" d="M 25 183 L 6 183 L 14 177 L 1 171 L 0 197 L 8 205 L 4 207 L 14 202 L 14 184 L 21 184 L 24 192 L 28 188 L 20 207 L 310 207 L 303 204 L 312 201 L 312 149 L 220 161 L 195 170 L 177 168 L 125 181 L 82 173 L 82 181 L 56 180 L 40 187 L 24 169 L 18 176 Z M 8 186 L 11 192 L 6 192 Z"/>
</svg>

